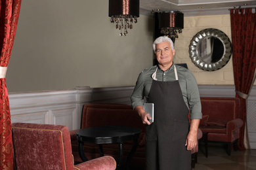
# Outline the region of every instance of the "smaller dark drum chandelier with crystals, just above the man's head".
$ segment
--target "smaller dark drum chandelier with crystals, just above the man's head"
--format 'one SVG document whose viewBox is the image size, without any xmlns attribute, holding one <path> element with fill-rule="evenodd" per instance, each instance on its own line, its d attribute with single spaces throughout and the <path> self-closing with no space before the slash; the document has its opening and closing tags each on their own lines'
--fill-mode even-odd
<svg viewBox="0 0 256 170">
<path fill-rule="evenodd" d="M 182 33 L 184 28 L 184 14 L 179 11 L 161 12 L 158 17 L 161 34 L 172 39 L 179 38 L 178 33 Z"/>
</svg>

